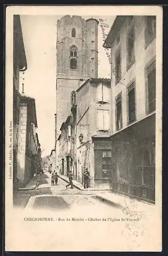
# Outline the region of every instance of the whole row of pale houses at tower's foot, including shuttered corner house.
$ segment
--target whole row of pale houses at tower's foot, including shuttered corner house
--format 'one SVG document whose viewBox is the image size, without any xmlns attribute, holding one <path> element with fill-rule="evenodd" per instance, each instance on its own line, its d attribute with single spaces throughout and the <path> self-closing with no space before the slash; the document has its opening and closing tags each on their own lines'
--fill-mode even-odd
<svg viewBox="0 0 168 256">
<path fill-rule="evenodd" d="M 88 79 L 70 94 L 70 101 L 71 114 L 59 136 L 61 174 L 68 175 L 71 170 L 74 179 L 83 184 L 83 172 L 88 167 L 90 186 L 109 188 L 110 79 Z"/>
</svg>

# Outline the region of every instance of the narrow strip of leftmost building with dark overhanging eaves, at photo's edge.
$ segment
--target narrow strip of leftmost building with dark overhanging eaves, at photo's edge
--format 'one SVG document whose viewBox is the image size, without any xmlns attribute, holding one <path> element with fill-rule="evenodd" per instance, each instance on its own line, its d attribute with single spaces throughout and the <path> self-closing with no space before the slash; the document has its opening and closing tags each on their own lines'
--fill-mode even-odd
<svg viewBox="0 0 168 256">
<path fill-rule="evenodd" d="M 18 134 L 20 118 L 19 72 L 27 69 L 20 16 L 13 15 L 13 188 L 17 183 Z"/>
</svg>

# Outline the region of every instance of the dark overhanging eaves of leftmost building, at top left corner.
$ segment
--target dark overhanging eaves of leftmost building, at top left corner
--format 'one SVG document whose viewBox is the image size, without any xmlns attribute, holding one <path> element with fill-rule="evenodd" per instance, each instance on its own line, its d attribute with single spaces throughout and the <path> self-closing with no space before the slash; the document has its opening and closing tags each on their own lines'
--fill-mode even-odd
<svg viewBox="0 0 168 256">
<path fill-rule="evenodd" d="M 13 15 L 13 51 L 14 60 L 19 64 L 19 70 L 27 69 L 23 35 L 21 30 L 20 15 Z"/>
</svg>

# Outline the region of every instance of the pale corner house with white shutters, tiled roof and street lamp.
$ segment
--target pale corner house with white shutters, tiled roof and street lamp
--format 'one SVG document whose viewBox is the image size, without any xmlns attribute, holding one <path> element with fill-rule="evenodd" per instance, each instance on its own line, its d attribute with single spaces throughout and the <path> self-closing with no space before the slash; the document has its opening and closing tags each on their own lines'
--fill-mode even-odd
<svg viewBox="0 0 168 256">
<path fill-rule="evenodd" d="M 91 187 L 110 185 L 110 163 L 103 158 L 111 148 L 110 91 L 110 79 L 103 78 L 88 79 L 76 91 L 77 180 L 83 183 L 83 172 L 88 167 Z"/>
</svg>

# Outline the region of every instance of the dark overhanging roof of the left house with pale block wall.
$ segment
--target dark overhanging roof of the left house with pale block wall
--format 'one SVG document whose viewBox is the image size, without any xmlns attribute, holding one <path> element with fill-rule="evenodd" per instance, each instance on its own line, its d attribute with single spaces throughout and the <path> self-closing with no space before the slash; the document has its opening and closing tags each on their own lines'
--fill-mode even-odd
<svg viewBox="0 0 168 256">
<path fill-rule="evenodd" d="M 31 122 L 35 124 L 35 127 L 37 128 L 37 116 L 36 116 L 36 104 L 35 99 L 28 96 L 20 96 L 20 102 L 21 103 L 27 103 L 28 108 L 30 110 L 30 119 Z"/>
</svg>

